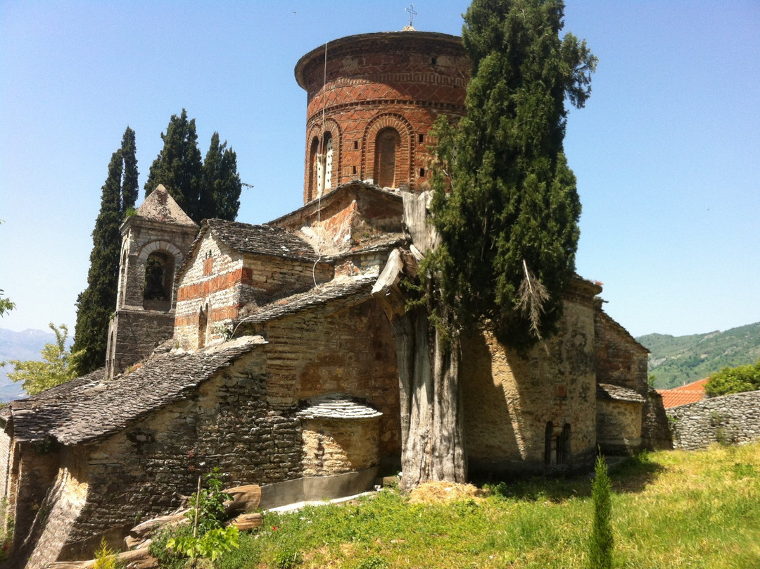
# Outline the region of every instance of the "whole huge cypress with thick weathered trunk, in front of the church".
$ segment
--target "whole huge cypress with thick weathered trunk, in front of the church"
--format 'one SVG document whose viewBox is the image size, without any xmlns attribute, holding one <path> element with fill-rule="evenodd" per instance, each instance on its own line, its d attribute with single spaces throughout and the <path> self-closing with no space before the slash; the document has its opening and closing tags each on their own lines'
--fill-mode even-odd
<svg viewBox="0 0 760 569">
<path fill-rule="evenodd" d="M 438 244 L 416 271 L 419 286 L 402 281 L 420 297 L 391 318 L 407 490 L 467 477 L 461 333 L 492 326 L 505 344 L 527 348 L 561 315 L 581 212 L 562 153 L 565 97 L 583 106 L 596 65 L 585 43 L 560 40 L 563 9 L 560 0 L 473 0 L 464 15 L 467 114 L 436 125 Z M 404 264 L 391 257 L 378 285 Z"/>
</svg>

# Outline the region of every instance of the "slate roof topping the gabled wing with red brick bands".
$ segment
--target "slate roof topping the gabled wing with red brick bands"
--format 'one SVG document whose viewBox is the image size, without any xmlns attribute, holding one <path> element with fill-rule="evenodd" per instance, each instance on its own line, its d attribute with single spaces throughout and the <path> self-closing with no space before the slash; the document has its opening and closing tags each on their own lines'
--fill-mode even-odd
<svg viewBox="0 0 760 569">
<path fill-rule="evenodd" d="M 282 227 L 250 225 L 223 219 L 207 219 L 204 227 L 208 227 L 214 237 L 240 253 L 258 253 L 309 262 L 318 259 L 318 254 L 309 243 Z"/>
</svg>

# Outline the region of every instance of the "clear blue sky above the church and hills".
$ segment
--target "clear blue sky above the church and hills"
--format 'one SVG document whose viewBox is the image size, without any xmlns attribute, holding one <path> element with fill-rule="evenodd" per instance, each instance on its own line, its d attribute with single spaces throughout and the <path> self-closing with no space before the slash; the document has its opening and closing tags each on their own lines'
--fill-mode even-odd
<svg viewBox="0 0 760 569">
<path fill-rule="evenodd" d="M 599 58 L 565 150 L 583 204 L 578 273 L 634 335 L 760 321 L 760 2 L 568 0 Z M 417 30 L 461 33 L 468 2 L 418 0 Z M 21 331 L 75 322 L 110 156 L 137 133 L 142 184 L 182 108 L 220 133 L 238 220 L 301 205 L 304 53 L 400 30 L 404 2 L 0 2 L 0 288 Z"/>
</svg>

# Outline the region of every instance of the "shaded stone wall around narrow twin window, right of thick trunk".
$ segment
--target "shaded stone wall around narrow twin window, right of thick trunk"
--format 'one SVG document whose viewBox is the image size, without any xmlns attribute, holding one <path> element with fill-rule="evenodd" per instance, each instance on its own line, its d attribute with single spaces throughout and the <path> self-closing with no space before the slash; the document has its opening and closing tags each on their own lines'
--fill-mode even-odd
<svg viewBox="0 0 760 569">
<path fill-rule="evenodd" d="M 594 314 L 591 298 L 565 301 L 560 332 L 521 356 L 489 333 L 462 347 L 465 433 L 470 468 L 546 468 L 546 426 L 571 429 L 566 466 L 590 463 L 596 449 Z M 556 466 L 549 465 L 549 468 Z"/>
</svg>

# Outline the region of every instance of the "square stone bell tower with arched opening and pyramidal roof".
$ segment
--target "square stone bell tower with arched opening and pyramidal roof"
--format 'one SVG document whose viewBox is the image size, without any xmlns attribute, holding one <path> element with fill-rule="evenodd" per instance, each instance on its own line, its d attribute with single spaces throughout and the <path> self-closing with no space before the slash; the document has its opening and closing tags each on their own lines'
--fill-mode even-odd
<svg viewBox="0 0 760 569">
<path fill-rule="evenodd" d="M 108 377 L 121 374 L 172 337 L 176 275 L 198 225 L 158 186 L 121 231 L 119 290 L 106 351 Z"/>
</svg>

